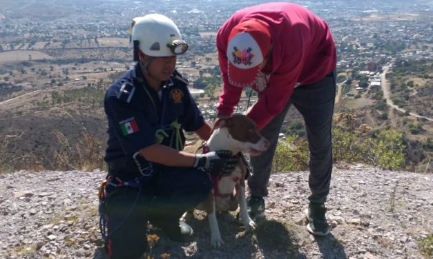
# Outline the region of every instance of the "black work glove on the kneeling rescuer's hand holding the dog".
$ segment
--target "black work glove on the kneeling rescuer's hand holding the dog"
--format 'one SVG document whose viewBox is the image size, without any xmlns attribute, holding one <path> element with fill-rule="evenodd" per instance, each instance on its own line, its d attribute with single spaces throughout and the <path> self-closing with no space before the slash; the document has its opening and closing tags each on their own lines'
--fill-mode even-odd
<svg viewBox="0 0 433 259">
<path fill-rule="evenodd" d="M 193 167 L 197 167 L 213 176 L 231 174 L 238 164 L 238 158 L 229 150 L 217 150 L 206 154 L 195 155 Z"/>
</svg>

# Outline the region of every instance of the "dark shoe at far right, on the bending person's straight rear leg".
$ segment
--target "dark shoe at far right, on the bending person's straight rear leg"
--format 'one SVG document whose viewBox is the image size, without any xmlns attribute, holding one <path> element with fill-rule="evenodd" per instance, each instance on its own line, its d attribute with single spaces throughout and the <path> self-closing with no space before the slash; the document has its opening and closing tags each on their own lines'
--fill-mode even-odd
<svg viewBox="0 0 433 259">
<path fill-rule="evenodd" d="M 326 236 L 329 234 L 329 226 L 326 220 L 326 207 L 323 203 L 309 203 L 305 209 L 305 216 L 309 223 L 307 230 L 314 236 Z"/>
</svg>

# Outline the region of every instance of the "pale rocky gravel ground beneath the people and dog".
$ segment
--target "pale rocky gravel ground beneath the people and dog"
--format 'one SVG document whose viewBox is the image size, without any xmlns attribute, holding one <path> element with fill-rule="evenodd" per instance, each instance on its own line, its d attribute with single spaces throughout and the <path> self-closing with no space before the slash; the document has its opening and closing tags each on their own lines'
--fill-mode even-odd
<svg viewBox="0 0 433 259">
<path fill-rule="evenodd" d="M 97 187 L 104 172 L 15 172 L 0 175 L 0 258 L 105 258 Z M 329 195 L 331 234 L 305 230 L 308 173 L 273 174 L 267 220 L 246 233 L 231 214 L 219 216 L 224 240 L 212 249 L 202 214 L 188 220 L 192 242 L 160 236 L 161 258 L 425 258 L 418 240 L 433 232 L 433 174 L 336 165 Z"/>
</svg>

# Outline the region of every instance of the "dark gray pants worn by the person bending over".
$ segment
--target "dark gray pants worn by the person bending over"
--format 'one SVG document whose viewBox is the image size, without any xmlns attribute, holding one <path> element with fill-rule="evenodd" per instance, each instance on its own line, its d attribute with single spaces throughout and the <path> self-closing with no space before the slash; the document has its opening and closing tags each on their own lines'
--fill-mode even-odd
<svg viewBox="0 0 433 259">
<path fill-rule="evenodd" d="M 302 114 L 309 144 L 310 202 L 325 203 L 329 194 L 332 172 L 331 123 L 336 95 L 336 72 L 317 83 L 295 88 L 284 109 L 261 131 L 270 143 L 269 149 L 259 156 L 251 156 L 253 174 L 248 178 L 250 194 L 268 195 L 272 159 L 276 151 L 278 134 L 291 103 Z M 290 159 L 289 157 L 287 159 Z"/>
</svg>

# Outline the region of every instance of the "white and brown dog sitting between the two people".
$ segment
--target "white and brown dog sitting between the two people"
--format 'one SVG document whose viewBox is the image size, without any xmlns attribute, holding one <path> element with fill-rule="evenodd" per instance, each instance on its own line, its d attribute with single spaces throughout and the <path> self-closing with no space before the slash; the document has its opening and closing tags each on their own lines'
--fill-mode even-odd
<svg viewBox="0 0 433 259">
<path fill-rule="evenodd" d="M 238 166 L 230 175 L 212 178 L 213 189 L 209 198 L 196 208 L 204 210 L 209 218 L 211 228 L 211 245 L 219 248 L 222 238 L 216 211 L 235 211 L 240 207 L 240 218 L 247 231 L 256 228 L 256 223 L 249 218 L 247 200 L 245 198 L 245 176 L 248 173 L 246 161 L 242 153 L 256 156 L 269 147 L 269 142 L 260 135 L 256 123 L 241 114 L 233 114 L 220 118 L 213 127 L 213 133 L 206 143 L 208 152 L 220 149 L 230 150 L 232 154 L 240 154 Z M 206 150 L 204 150 L 206 152 Z"/>
</svg>

